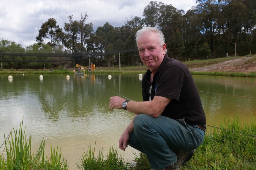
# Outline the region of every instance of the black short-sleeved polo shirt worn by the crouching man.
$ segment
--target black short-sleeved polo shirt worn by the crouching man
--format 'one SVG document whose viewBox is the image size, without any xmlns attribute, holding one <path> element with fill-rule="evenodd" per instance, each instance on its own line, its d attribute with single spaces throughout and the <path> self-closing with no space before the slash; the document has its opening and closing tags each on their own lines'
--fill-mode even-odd
<svg viewBox="0 0 256 170">
<path fill-rule="evenodd" d="M 147 70 L 142 80 L 143 101 L 149 101 L 151 71 Z M 182 119 L 188 124 L 206 124 L 201 99 L 193 77 L 185 64 L 165 54 L 154 74 L 151 100 L 155 95 L 172 98 L 162 116 Z"/>
</svg>

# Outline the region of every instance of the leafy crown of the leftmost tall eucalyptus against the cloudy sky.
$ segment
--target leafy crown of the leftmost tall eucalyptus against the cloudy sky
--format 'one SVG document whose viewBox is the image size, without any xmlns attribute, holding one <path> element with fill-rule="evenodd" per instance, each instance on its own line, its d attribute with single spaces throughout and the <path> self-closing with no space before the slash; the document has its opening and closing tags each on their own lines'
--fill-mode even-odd
<svg viewBox="0 0 256 170">
<path fill-rule="evenodd" d="M 56 48 L 61 42 L 64 36 L 62 28 L 56 25 L 55 19 L 50 18 L 48 21 L 42 24 L 39 34 L 36 37 L 36 41 L 39 45 L 42 43 L 49 44 L 52 48 Z"/>
</svg>

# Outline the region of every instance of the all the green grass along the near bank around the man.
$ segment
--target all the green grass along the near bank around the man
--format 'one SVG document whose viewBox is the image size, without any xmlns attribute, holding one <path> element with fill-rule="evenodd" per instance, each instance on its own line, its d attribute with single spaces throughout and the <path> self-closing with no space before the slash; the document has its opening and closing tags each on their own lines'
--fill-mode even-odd
<svg viewBox="0 0 256 170">
<path fill-rule="evenodd" d="M 256 124 L 252 122 L 241 124 L 238 117 L 224 120 L 220 127 L 207 125 L 208 129 L 204 142 L 197 148 L 195 155 L 181 170 L 219 170 L 219 169 L 256 169 Z M 26 128 L 25 128 L 26 129 Z M 14 130 L 14 129 L 13 129 Z M 135 154 L 135 163 L 125 162 L 118 156 L 114 146 L 110 147 L 106 158 L 99 150 L 94 156 L 94 148 L 84 150 L 80 161 L 75 165 L 79 170 L 146 170 L 150 169 L 148 159 L 144 153 Z M 47 157 L 44 153 L 43 139 L 37 153 L 31 153 L 31 136 L 27 139 L 23 132 L 23 121 L 20 129 L 14 130 L 5 140 L 4 152 L 0 154 L 0 170 L 66 170 L 67 159 L 62 158 L 61 150 L 52 148 Z"/>
</svg>

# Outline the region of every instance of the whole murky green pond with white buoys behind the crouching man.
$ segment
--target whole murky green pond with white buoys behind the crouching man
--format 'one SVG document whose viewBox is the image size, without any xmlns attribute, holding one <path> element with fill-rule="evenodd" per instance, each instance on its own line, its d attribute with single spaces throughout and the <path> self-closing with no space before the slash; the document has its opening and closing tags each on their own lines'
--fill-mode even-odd
<svg viewBox="0 0 256 170">
<path fill-rule="evenodd" d="M 50 144 L 59 146 L 69 163 L 75 162 L 94 148 L 108 153 L 114 146 L 125 161 L 132 161 L 137 153 L 128 147 L 118 148 L 118 139 L 134 114 L 121 109 L 109 110 L 109 98 L 121 96 L 142 101 L 139 74 L 89 75 L 0 75 L 0 145 L 14 127 L 23 120 L 26 137 L 32 137 L 36 151 L 45 137 L 45 151 Z M 238 116 L 241 122 L 256 117 L 256 79 L 244 77 L 217 77 L 193 75 L 207 124 L 219 127 L 220 121 Z M 0 149 L 3 150 L 4 147 Z"/>
</svg>

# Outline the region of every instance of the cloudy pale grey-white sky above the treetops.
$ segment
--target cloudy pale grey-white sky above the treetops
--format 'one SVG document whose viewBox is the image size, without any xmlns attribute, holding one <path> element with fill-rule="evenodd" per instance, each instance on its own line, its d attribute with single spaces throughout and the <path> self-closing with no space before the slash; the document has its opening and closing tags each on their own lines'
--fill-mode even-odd
<svg viewBox="0 0 256 170">
<path fill-rule="evenodd" d="M 152 0 L 151 0 L 152 1 Z M 185 12 L 196 6 L 196 0 L 162 0 L 165 5 Z M 43 23 L 54 18 L 60 28 L 87 14 L 85 23 L 92 23 L 94 31 L 108 22 L 113 27 L 125 25 L 131 17 L 143 18 L 150 0 L 1 0 L 0 40 L 14 41 L 23 48 L 37 43 L 36 37 Z"/>
</svg>

